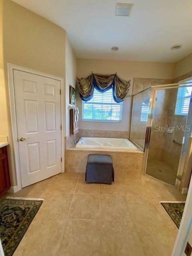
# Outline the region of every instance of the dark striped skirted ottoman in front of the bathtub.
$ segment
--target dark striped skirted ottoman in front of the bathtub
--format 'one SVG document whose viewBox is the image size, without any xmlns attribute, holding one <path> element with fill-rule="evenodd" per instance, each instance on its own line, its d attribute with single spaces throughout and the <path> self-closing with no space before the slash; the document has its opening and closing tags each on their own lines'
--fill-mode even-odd
<svg viewBox="0 0 192 256">
<path fill-rule="evenodd" d="M 87 183 L 105 184 L 114 182 L 114 169 L 111 156 L 88 155 L 85 181 Z"/>
</svg>

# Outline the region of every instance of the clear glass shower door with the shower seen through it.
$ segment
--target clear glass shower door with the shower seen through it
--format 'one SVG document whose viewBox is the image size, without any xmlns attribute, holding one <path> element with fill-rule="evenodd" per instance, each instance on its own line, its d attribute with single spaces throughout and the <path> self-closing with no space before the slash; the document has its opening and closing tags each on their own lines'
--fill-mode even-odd
<svg viewBox="0 0 192 256">
<path fill-rule="evenodd" d="M 165 87 L 155 90 L 145 174 L 171 185 L 176 184 L 192 87 Z"/>
</svg>

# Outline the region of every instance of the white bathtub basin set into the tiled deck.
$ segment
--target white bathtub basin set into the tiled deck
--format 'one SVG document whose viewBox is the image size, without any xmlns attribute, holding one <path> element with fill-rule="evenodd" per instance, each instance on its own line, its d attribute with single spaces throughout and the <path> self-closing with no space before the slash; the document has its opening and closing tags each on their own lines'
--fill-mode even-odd
<svg viewBox="0 0 192 256">
<path fill-rule="evenodd" d="M 134 146 L 132 142 L 128 139 L 119 139 L 119 138 L 96 138 L 96 137 L 81 137 L 76 148 L 91 148 L 91 149 L 100 149 L 100 150 L 123 150 L 123 151 L 132 151 L 137 150 L 138 148 Z"/>
</svg>

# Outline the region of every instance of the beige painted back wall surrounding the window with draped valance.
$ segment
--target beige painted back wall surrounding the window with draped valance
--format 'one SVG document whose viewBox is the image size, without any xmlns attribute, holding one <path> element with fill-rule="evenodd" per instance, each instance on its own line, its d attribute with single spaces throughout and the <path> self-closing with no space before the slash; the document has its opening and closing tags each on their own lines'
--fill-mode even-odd
<svg viewBox="0 0 192 256">
<path fill-rule="evenodd" d="M 90 73 L 114 74 L 117 72 L 122 79 L 130 80 L 131 86 L 127 98 L 123 102 L 122 122 L 85 122 L 81 121 L 82 101 L 77 95 L 77 106 L 80 108 L 80 129 L 89 130 L 113 130 L 128 131 L 130 121 L 132 84 L 134 77 L 142 78 L 165 78 L 170 79 L 174 74 L 174 64 L 172 63 L 156 63 L 156 62 L 135 62 L 122 60 L 77 60 L 77 76 L 87 77 Z"/>
</svg>

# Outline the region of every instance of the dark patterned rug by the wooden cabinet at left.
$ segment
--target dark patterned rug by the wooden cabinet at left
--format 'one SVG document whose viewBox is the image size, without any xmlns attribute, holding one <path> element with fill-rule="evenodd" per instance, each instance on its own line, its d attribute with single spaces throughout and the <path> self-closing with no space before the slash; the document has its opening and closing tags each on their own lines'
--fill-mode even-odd
<svg viewBox="0 0 192 256">
<path fill-rule="evenodd" d="M 5 256 L 14 254 L 42 202 L 10 198 L 0 201 L 0 238 Z"/>
</svg>

